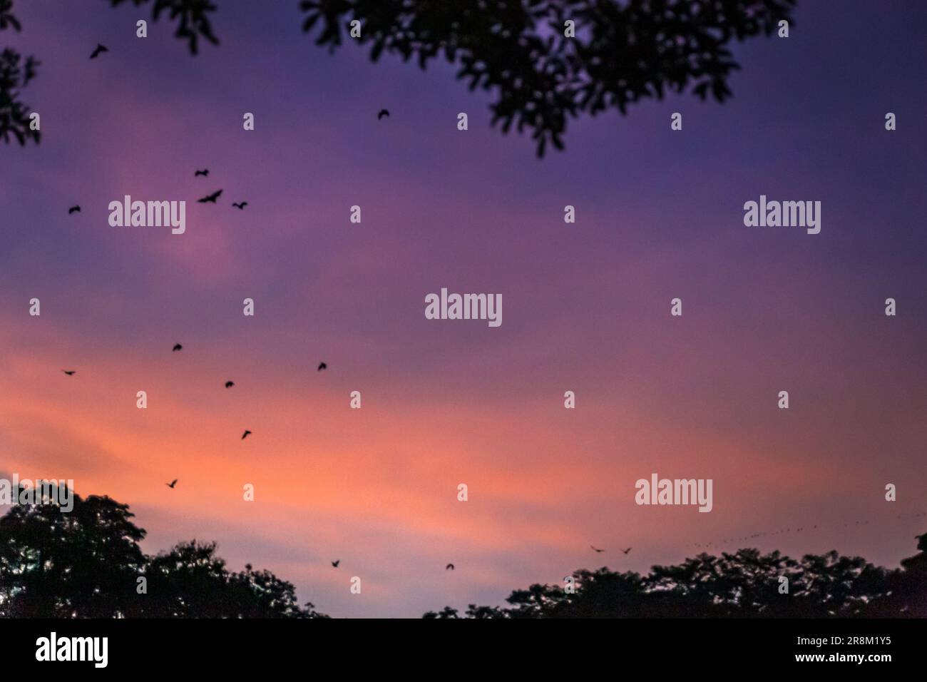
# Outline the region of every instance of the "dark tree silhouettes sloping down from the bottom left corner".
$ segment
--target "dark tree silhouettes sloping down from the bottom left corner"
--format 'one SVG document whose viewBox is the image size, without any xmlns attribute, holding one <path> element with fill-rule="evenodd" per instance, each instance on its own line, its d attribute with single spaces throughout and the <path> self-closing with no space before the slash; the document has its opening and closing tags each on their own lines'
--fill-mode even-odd
<svg viewBox="0 0 927 682">
<path fill-rule="evenodd" d="M 0 617 L 327 617 L 300 607 L 293 585 L 269 571 L 230 573 L 215 543 L 147 556 L 132 518 L 96 495 L 74 495 L 70 512 L 48 497 L 10 509 L 0 518 Z"/>
</svg>

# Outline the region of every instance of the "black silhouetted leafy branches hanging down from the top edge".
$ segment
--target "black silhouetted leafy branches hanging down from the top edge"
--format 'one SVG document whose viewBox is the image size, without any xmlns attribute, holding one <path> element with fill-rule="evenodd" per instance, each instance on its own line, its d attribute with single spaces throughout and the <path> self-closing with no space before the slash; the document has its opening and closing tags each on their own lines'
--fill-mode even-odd
<svg viewBox="0 0 927 682">
<path fill-rule="evenodd" d="M 128 2 L 108 0 L 111 6 Z M 210 24 L 217 6 L 210 0 L 131 2 L 151 2 L 153 20 L 166 15 L 176 21 L 175 35 L 192 54 L 200 38 L 219 43 Z M 0 28 L 6 16 L 19 30 L 11 5 L 0 0 Z M 791 23 L 794 5 L 795 0 L 304 0 L 300 9 L 303 31 L 317 31 L 315 43 L 330 51 L 342 45 L 350 23 L 359 21 L 360 36 L 349 40 L 369 45 L 373 61 L 388 53 L 425 70 L 443 58 L 471 90 L 494 94 L 492 125 L 503 133 L 513 125 L 519 133 L 531 131 L 543 156 L 549 144 L 564 148 L 569 117 L 609 109 L 624 114 L 629 104 L 662 99 L 667 91 L 688 90 L 723 102 L 731 94 L 730 73 L 740 68 L 729 45 L 769 35 L 781 20 Z M 17 53 L 5 59 L 14 70 L 0 80 L 0 135 L 8 141 L 12 132 L 24 144 L 26 108 L 15 105 L 19 87 L 29 79 L 14 75 Z"/>
</svg>

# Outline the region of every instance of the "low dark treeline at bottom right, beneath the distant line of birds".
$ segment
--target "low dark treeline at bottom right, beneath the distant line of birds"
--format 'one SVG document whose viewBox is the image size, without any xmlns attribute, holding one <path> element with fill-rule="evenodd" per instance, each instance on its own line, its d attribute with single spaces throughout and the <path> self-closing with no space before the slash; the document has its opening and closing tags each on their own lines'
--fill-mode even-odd
<svg viewBox="0 0 927 682">
<path fill-rule="evenodd" d="M 573 574 L 575 591 L 559 585 L 514 590 L 509 607 L 470 604 L 464 616 L 450 606 L 424 618 L 828 618 L 927 615 L 927 534 L 921 553 L 902 570 L 873 566 L 835 551 L 800 561 L 778 551 L 741 549 L 700 554 L 651 573 L 607 568 Z M 780 591 L 780 578 L 789 592 Z"/>
</svg>

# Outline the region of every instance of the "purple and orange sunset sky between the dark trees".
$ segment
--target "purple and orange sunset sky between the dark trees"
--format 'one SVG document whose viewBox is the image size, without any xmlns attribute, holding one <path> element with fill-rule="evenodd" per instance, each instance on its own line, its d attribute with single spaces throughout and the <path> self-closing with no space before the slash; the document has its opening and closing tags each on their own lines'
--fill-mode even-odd
<svg viewBox="0 0 927 682">
<path fill-rule="evenodd" d="M 100 0 L 17 2 L 0 33 L 42 62 L 22 99 L 43 135 L 0 147 L 0 473 L 129 504 L 147 552 L 216 540 L 333 616 L 498 604 L 787 527 L 716 551 L 915 553 L 927 6 L 801 1 L 791 37 L 735 45 L 729 102 L 571 121 L 539 160 L 447 65 L 330 55 L 296 0 L 217 4 L 196 57 Z M 126 194 L 186 200 L 186 233 L 109 226 Z M 761 194 L 821 201 L 820 234 L 744 226 Z M 502 326 L 425 319 L 442 287 L 501 293 Z M 713 479 L 713 510 L 637 506 L 653 472 Z"/>
</svg>

